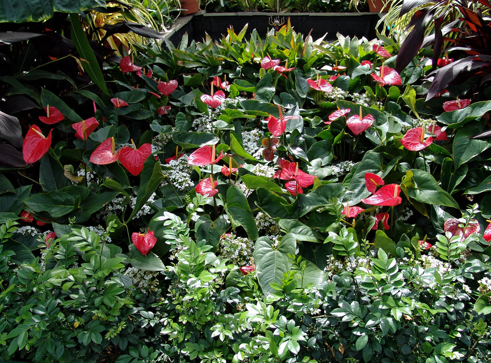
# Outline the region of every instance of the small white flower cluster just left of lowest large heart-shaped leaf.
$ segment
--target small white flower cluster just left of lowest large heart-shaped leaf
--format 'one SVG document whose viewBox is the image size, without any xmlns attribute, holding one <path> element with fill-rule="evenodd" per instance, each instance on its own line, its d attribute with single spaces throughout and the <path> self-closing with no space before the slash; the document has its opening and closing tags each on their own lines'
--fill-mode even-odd
<svg viewBox="0 0 491 363">
<path fill-rule="evenodd" d="M 249 238 L 237 237 L 232 233 L 225 233 L 218 243 L 219 256 L 229 259 L 230 263 L 237 266 L 250 264 L 254 252 L 254 242 Z"/>
</svg>

